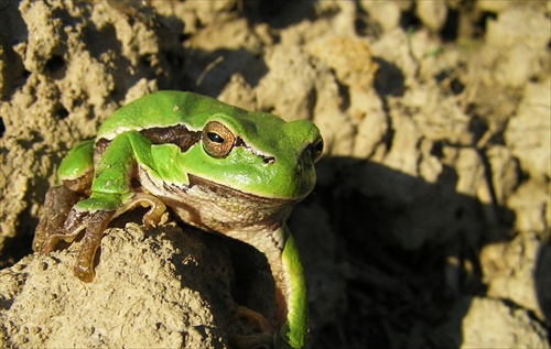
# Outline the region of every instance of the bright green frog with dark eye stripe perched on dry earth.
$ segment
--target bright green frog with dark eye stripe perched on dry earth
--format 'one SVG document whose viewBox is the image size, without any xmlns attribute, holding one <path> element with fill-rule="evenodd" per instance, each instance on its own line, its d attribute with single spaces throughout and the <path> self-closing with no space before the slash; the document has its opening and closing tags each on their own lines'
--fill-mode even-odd
<svg viewBox="0 0 551 349">
<path fill-rule="evenodd" d="M 274 282 L 274 319 L 239 306 L 258 330 L 239 348 L 302 348 L 307 335 L 303 266 L 287 219 L 316 182 L 323 152 L 310 120 L 284 121 L 191 91 L 160 90 L 116 110 L 97 135 L 75 145 L 45 197 L 33 250 L 80 246 L 74 274 L 95 279 L 94 261 L 110 221 L 144 207 L 154 228 L 172 211 L 201 230 L 252 246 Z M 168 210 L 169 209 L 169 210 Z"/>
</svg>

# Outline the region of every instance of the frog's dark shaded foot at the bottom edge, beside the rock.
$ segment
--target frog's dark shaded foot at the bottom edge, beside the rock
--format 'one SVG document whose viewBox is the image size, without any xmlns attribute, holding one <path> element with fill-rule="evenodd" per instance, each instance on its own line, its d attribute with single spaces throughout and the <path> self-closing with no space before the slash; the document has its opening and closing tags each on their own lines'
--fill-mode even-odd
<svg viewBox="0 0 551 349">
<path fill-rule="evenodd" d="M 272 349 L 276 328 L 261 314 L 239 306 L 234 315 L 233 324 L 250 329 L 249 334 L 233 334 L 230 342 L 240 349 Z"/>
</svg>

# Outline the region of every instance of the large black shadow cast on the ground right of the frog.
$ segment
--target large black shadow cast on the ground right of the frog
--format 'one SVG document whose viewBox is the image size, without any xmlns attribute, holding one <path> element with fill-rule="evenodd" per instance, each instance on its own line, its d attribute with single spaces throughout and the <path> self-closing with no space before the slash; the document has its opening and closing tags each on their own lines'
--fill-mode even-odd
<svg viewBox="0 0 551 349">
<path fill-rule="evenodd" d="M 457 193 L 453 168 L 435 183 L 355 159 L 317 170 L 309 201 L 327 210 L 349 272 L 347 310 L 314 348 L 460 348 L 469 301 L 485 293 L 480 248 L 506 239 L 514 214 Z"/>
</svg>

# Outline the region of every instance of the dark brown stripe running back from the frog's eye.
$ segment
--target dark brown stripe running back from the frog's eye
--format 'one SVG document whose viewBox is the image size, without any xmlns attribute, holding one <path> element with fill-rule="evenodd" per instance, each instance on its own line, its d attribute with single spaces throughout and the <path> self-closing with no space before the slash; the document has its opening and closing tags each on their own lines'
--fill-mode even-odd
<svg viewBox="0 0 551 349">
<path fill-rule="evenodd" d="M 201 141 L 199 131 L 190 131 L 183 124 L 141 130 L 152 144 L 175 144 L 184 153 Z"/>
</svg>

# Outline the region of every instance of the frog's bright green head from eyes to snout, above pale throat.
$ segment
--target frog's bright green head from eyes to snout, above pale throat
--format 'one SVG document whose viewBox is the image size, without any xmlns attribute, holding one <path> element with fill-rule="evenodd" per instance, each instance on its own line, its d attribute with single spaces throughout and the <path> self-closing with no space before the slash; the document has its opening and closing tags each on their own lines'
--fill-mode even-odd
<svg viewBox="0 0 551 349">
<path fill-rule="evenodd" d="M 205 119 L 201 146 L 191 151 L 201 161 L 190 174 L 261 197 L 301 199 L 314 187 L 323 140 L 310 121 L 233 108 Z"/>
</svg>

